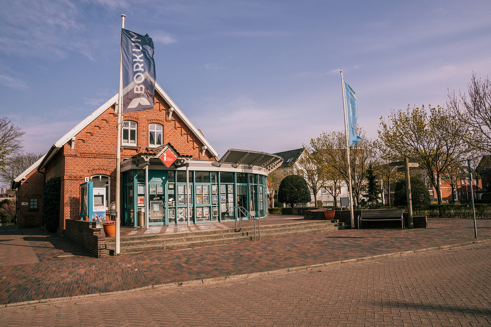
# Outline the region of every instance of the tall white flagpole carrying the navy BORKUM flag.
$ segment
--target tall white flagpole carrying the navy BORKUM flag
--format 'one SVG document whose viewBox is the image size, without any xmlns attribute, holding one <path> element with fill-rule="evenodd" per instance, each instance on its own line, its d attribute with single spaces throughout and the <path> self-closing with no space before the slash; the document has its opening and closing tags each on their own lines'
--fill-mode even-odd
<svg viewBox="0 0 491 327">
<path fill-rule="evenodd" d="M 126 15 L 121 15 L 121 28 L 124 28 L 124 18 Z M 118 91 L 118 123 L 116 125 L 116 244 L 114 248 L 114 255 L 120 255 L 119 253 L 119 225 L 121 222 L 121 110 L 123 107 L 123 52 L 120 49 L 119 52 L 119 91 Z"/>
</svg>

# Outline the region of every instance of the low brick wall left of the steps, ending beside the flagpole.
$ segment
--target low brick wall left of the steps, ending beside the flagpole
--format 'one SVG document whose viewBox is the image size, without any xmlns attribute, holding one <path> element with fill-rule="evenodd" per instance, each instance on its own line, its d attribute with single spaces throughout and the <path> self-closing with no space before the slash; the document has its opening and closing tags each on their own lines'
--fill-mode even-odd
<svg viewBox="0 0 491 327">
<path fill-rule="evenodd" d="M 84 220 L 65 220 L 63 236 L 82 246 L 97 258 L 106 256 L 106 234 L 102 228 L 96 228 L 95 222 Z"/>
</svg>

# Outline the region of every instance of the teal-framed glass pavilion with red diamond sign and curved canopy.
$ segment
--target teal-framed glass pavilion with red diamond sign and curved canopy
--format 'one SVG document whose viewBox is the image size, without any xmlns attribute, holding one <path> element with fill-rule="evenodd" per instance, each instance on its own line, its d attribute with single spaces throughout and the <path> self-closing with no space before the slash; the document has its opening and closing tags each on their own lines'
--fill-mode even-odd
<svg viewBox="0 0 491 327">
<path fill-rule="evenodd" d="M 123 224 L 222 222 L 246 219 L 245 212 L 267 217 L 267 176 L 282 162 L 274 154 L 235 149 L 219 161 L 191 160 L 170 143 L 138 153 L 121 163 Z"/>
</svg>

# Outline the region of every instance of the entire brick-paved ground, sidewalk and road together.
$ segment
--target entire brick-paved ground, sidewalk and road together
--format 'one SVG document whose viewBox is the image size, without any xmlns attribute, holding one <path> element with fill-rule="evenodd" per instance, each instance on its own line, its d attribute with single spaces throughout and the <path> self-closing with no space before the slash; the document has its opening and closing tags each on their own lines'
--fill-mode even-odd
<svg viewBox="0 0 491 327">
<path fill-rule="evenodd" d="M 0 267 L 0 325 L 489 326 L 491 221 L 477 224 L 469 246 L 472 220 L 429 219 L 426 229 L 347 229 L 104 259 L 58 235 L 2 229 L 2 259 L 17 264 Z M 450 244 L 460 246 L 435 248 Z M 59 297 L 75 298 L 42 300 Z M 21 303 L 33 300 L 41 301 Z"/>
</svg>

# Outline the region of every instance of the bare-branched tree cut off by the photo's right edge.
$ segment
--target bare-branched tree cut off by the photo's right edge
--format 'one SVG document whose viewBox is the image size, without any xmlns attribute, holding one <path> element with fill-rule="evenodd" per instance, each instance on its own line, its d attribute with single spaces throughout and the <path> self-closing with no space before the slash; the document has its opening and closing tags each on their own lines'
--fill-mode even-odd
<svg viewBox="0 0 491 327">
<path fill-rule="evenodd" d="M 467 84 L 468 97 L 455 91 L 448 92 L 447 108 L 465 124 L 467 133 L 455 131 L 452 135 L 466 142 L 473 150 L 489 152 L 491 149 L 491 81 L 482 80 L 474 72 Z"/>
</svg>

